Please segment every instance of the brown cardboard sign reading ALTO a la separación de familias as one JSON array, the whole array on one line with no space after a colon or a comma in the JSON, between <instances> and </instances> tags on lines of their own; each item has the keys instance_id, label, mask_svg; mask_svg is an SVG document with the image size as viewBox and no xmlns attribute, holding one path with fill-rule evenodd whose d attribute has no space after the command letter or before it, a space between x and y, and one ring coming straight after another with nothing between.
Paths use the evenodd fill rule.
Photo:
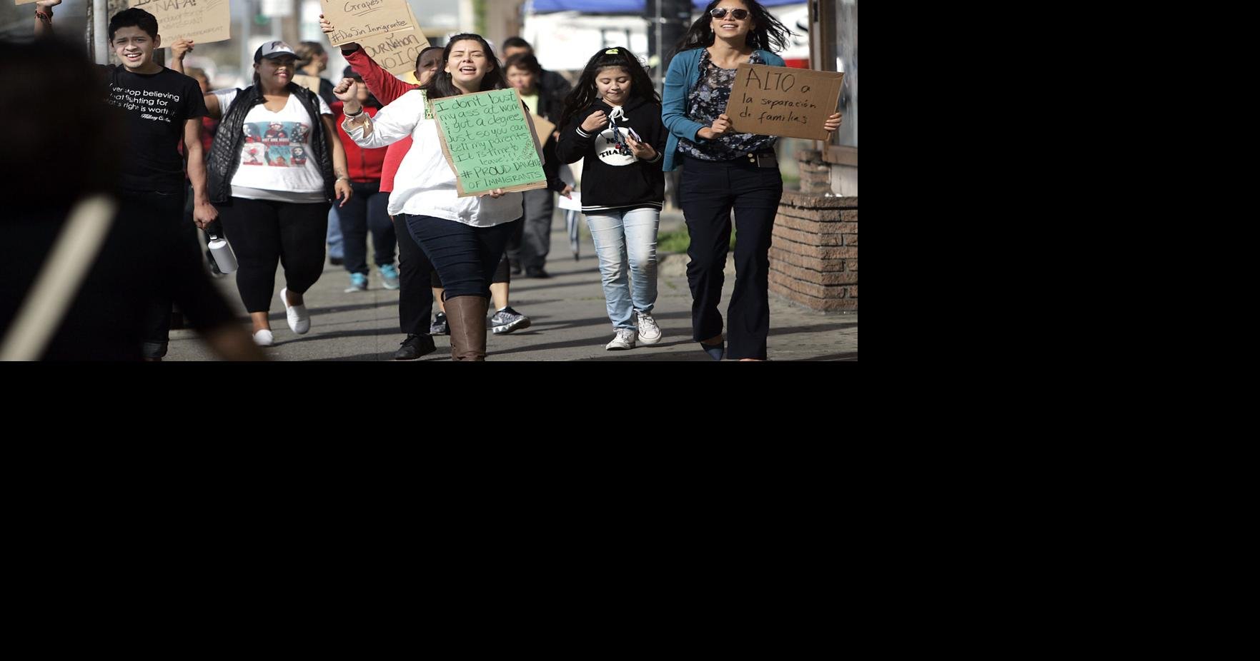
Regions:
<instances>
[{"instance_id":1,"label":"brown cardboard sign reading ALTO a la separaci\u00f3n de familias","mask_svg":"<svg viewBox=\"0 0 1260 661\"><path fill-rule=\"evenodd\" d=\"M738 133L827 140L843 73L740 64L726 113Z\"/></svg>"}]
</instances>

